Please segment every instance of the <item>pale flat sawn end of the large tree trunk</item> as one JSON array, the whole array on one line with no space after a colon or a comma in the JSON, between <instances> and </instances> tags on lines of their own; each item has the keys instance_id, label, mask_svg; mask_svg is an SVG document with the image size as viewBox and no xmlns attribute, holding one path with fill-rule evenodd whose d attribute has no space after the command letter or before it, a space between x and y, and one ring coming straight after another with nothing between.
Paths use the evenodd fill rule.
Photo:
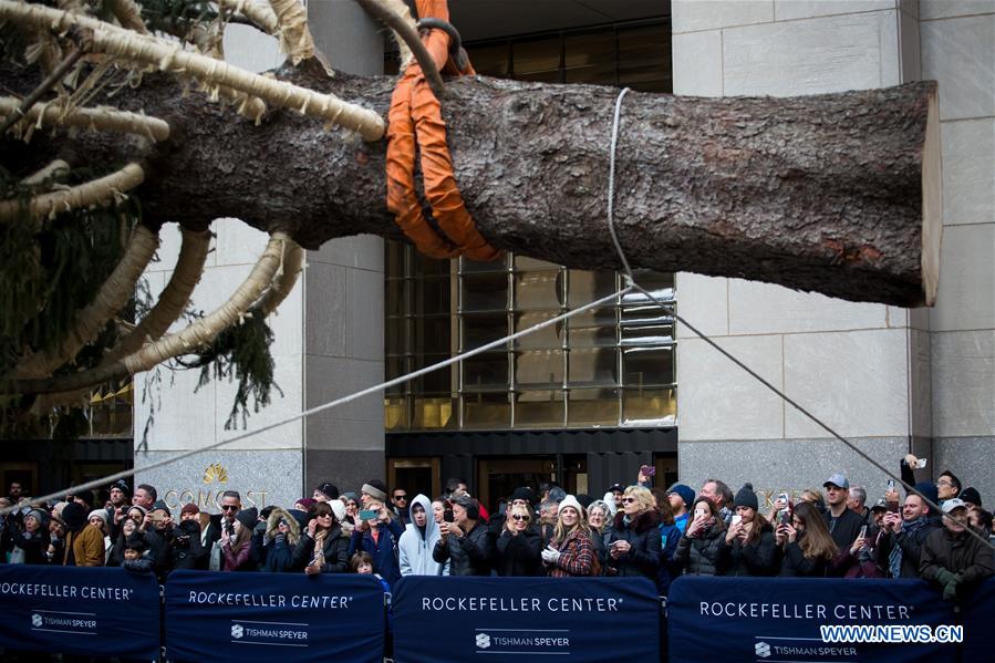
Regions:
<instances>
[{"instance_id":1,"label":"pale flat sawn end of the large tree trunk","mask_svg":"<svg viewBox=\"0 0 995 663\"><path fill-rule=\"evenodd\" d=\"M940 99L927 97L929 116L922 148L922 290L923 304L936 303L940 289L940 244L943 237L943 176L940 158Z\"/></svg>"}]
</instances>

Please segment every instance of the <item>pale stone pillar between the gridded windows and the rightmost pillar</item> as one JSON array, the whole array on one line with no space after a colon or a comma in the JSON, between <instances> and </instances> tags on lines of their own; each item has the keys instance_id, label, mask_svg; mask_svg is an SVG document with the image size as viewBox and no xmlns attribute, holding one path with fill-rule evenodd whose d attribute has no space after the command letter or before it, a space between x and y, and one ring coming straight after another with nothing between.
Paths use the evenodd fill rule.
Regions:
<instances>
[{"instance_id":1,"label":"pale stone pillar between the gridded windows and the rightmost pillar","mask_svg":"<svg viewBox=\"0 0 995 663\"><path fill-rule=\"evenodd\" d=\"M914 2L673 1L674 93L815 94L920 77ZM681 313L874 458L898 469L931 437L929 315L740 279L677 276ZM835 472L881 496L885 477L677 329L681 480L735 491L821 487Z\"/></svg>"}]
</instances>

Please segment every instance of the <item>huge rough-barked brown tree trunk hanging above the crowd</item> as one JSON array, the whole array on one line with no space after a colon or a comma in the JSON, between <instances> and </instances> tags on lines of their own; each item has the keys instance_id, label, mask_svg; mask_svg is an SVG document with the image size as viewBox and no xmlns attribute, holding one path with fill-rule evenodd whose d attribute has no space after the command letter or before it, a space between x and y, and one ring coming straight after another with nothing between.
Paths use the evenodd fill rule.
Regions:
<instances>
[{"instance_id":1,"label":"huge rough-barked brown tree trunk hanging above the crowd","mask_svg":"<svg viewBox=\"0 0 995 663\"><path fill-rule=\"evenodd\" d=\"M281 77L386 115L393 80ZM583 269L620 268L607 222L619 91L494 79L447 83L456 179L496 247ZM146 76L111 100L166 118L173 137L86 134L2 152L32 167L145 158L146 217L199 229L237 217L301 245L400 237L385 208L383 141L367 144L277 111L261 126ZM853 301L914 307L936 292L936 85L808 97L629 93L616 152L615 222L633 266L739 277ZM4 165L11 167L8 157ZM28 168L25 168L28 169Z\"/></svg>"}]
</instances>

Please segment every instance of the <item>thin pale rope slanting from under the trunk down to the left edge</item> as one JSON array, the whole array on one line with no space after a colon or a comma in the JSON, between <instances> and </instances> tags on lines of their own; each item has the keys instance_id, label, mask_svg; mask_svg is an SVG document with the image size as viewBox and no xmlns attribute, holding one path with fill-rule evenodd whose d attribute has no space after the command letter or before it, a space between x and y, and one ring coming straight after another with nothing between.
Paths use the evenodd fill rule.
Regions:
<instances>
[{"instance_id":1,"label":"thin pale rope slanting from under the trunk down to the left edge","mask_svg":"<svg viewBox=\"0 0 995 663\"><path fill-rule=\"evenodd\" d=\"M532 327L529 327L521 331L515 332L514 334L508 334L507 336L500 338L496 341L491 341L489 343L480 345L479 348L474 348L473 350L468 350L466 352L463 352L460 354L452 356L447 360L441 361L441 362L432 364L429 366L425 366L424 369L418 369L417 371L412 371L411 373L407 373L400 377L394 377L393 380L387 380L386 382L382 382L380 384L366 387L359 392L352 393L348 396L342 396L341 398L336 398L334 401L329 401L328 403L318 405L310 410L304 410L303 412L293 414L291 416L282 418L282 419L279 419L277 422L273 422L271 424L262 426L261 428L257 428L255 431L249 431L247 433L242 433L240 435L236 435L235 437L229 437L228 439L222 439L220 442L216 442L214 444L209 444L204 447L190 449L188 452L183 452L182 454L176 454L175 456L170 456L168 458L157 460L155 463L152 463L151 465L143 465L142 467L133 467L131 469L125 469L125 470L122 470L122 472L118 472L118 473L115 473L112 475L107 475L107 476L99 478L99 479L93 479L92 481L86 481L85 484L80 484L79 486L72 486L71 488L64 488L64 489L58 490L55 493L50 493L49 495L42 495L41 497L33 497L33 498L31 498L30 504L31 505L40 505L41 503L62 499L66 494L70 494L70 493L82 493L84 490L92 490L94 488L103 488L103 487L106 487L108 484L113 484L117 479L125 479L125 478L132 477L139 472L148 472L152 469L156 469L158 467L172 465L173 463L183 460L184 458L189 458L190 456L196 456L197 454L203 454L204 452L210 452L213 449L220 448L220 447L231 444L234 442L247 439L255 435L259 435L260 433L266 433L267 431L272 431L273 428L279 428L280 426L284 426L284 425L296 422L298 419L307 418L311 415L318 414L319 412L324 412L325 410L331 410L331 408L338 407L340 405L345 405L346 403L351 403L357 398L362 398L363 396L369 396L370 394L374 394L374 393L385 390L387 387L402 384L414 377L421 377L422 375L425 375L426 373L431 373L433 371L437 371L438 369L445 369L446 366L450 366L455 363L459 363L465 359L469 359L469 358L480 354L483 352L487 352L488 350L491 350L494 348L499 348L500 345L504 345L508 341L515 341L515 340L520 339L520 338L522 338L527 334L530 334L535 331L539 331L540 329L543 329L543 328L557 324L559 322L562 322L564 320L568 320L570 318L573 318L574 315L583 313L584 311L589 311L591 309L595 309L595 308L604 305L607 303L611 303L613 300L615 300L615 298L626 294L631 290L632 290L632 286L628 286L625 288L622 288L618 292L613 292L612 294L602 297L601 299L599 299L597 301L592 301L591 303L584 304L584 305L580 307L579 309L573 309L572 311L568 311L566 313L557 315L556 318L550 318L549 320L543 320L542 322L539 322L538 324L533 324ZM23 506L24 506L23 504L12 505L10 507L0 509L0 516L6 516L7 514L10 514L20 508L23 508Z\"/></svg>"}]
</instances>

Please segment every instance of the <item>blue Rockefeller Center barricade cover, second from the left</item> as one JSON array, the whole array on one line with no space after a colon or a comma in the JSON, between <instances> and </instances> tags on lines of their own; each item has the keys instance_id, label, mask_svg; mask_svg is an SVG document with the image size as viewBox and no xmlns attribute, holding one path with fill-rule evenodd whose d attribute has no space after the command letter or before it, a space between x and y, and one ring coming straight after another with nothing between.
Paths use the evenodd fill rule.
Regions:
<instances>
[{"instance_id":1,"label":"blue Rockefeller Center barricade cover, second from the left","mask_svg":"<svg viewBox=\"0 0 995 663\"><path fill-rule=\"evenodd\" d=\"M174 571L166 581L172 661L380 663L383 643L372 576Z\"/></svg>"}]
</instances>

